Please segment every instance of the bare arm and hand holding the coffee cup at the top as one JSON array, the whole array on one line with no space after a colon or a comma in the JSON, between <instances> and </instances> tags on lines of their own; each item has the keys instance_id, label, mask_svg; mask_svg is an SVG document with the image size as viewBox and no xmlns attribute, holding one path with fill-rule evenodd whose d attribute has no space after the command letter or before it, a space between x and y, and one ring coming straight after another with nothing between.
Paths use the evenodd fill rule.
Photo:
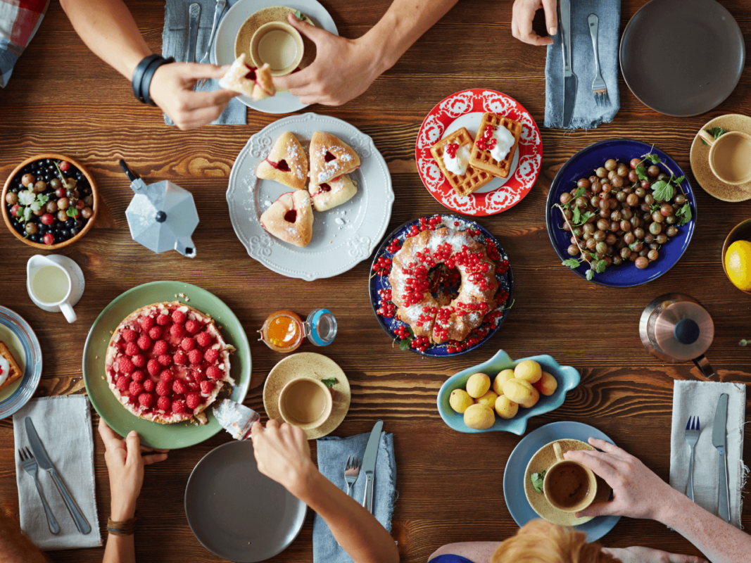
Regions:
<instances>
[{"instance_id":1,"label":"bare arm and hand holding the coffee cup at the top","mask_svg":"<svg viewBox=\"0 0 751 563\"><path fill-rule=\"evenodd\" d=\"M440 20L457 0L394 0L365 35L346 39L297 20L288 20L315 43L315 61L302 71L273 79L303 104L339 106L366 91L394 66L415 41Z\"/></svg>"}]
</instances>

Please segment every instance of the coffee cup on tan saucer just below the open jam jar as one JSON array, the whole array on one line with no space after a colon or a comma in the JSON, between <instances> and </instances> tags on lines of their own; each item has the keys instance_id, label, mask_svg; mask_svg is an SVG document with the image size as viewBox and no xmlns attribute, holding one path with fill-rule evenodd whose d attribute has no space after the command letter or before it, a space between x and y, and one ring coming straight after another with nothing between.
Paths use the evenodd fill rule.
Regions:
<instances>
[{"instance_id":1,"label":"coffee cup on tan saucer just below the open jam jar","mask_svg":"<svg viewBox=\"0 0 751 563\"><path fill-rule=\"evenodd\" d=\"M314 378L293 379L279 393L279 413L286 423L312 430L331 415L333 399L328 387Z\"/></svg>"}]
</instances>

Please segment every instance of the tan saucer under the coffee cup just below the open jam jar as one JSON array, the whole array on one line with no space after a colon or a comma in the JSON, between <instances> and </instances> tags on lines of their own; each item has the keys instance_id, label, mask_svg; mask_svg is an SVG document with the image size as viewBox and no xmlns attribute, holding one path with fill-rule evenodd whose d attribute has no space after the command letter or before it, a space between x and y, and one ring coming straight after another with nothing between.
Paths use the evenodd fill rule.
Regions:
<instances>
[{"instance_id":1,"label":"tan saucer under the coffee cup just below the open jam jar","mask_svg":"<svg viewBox=\"0 0 751 563\"><path fill-rule=\"evenodd\" d=\"M331 416L318 428L305 431L309 440L315 440L330 434L342 423L349 410L352 392L347 376L333 360L313 352L292 354L273 367L264 383L264 409L270 419L282 422L282 414L279 413L279 393L282 393L282 389L290 381L303 376L318 380L336 378L336 385L331 387Z\"/></svg>"}]
</instances>

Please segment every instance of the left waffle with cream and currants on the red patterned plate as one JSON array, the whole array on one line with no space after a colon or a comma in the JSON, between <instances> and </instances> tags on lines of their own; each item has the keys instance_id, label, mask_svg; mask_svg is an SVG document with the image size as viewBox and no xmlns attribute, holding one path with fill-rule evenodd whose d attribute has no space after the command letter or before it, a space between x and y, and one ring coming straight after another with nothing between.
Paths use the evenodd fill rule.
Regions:
<instances>
[{"instance_id":1,"label":"left waffle with cream and currants on the red patterned plate","mask_svg":"<svg viewBox=\"0 0 751 563\"><path fill-rule=\"evenodd\" d=\"M430 147L448 183L459 195L469 195L493 179L493 174L475 169L469 164L472 151L472 136L462 127L446 135Z\"/></svg>"}]
</instances>

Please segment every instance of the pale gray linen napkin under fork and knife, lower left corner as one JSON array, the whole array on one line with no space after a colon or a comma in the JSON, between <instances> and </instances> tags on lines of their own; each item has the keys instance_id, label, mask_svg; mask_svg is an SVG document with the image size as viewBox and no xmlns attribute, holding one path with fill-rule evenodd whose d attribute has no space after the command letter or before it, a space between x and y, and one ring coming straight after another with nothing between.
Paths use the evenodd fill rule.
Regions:
<instances>
[{"instance_id":1,"label":"pale gray linen napkin under fork and knife, lower left corner","mask_svg":"<svg viewBox=\"0 0 751 563\"><path fill-rule=\"evenodd\" d=\"M47 526L47 516L39 498L34 479L23 470L18 456L20 447L29 447L23 419L32 417L47 455L55 465L58 476L92 526L89 534L81 534L65 507L55 482L47 471L37 474L44 498L60 525L58 534ZM21 529L43 550L73 549L101 546L99 519L94 489L94 440L89 399L84 395L67 395L32 399L13 415L13 434L16 444L16 481Z\"/></svg>"}]
</instances>

